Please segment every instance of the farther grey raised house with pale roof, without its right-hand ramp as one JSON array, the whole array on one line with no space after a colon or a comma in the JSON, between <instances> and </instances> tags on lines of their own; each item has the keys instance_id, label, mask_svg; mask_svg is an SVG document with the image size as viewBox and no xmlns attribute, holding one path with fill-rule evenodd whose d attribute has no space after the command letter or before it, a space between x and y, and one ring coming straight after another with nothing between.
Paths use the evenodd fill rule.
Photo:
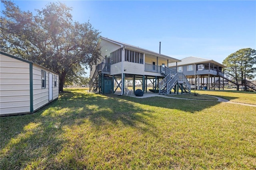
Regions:
<instances>
[{"instance_id":1,"label":"farther grey raised house with pale roof, without its right-hand ramp","mask_svg":"<svg viewBox=\"0 0 256 170\"><path fill-rule=\"evenodd\" d=\"M176 68L176 65L170 64L169 67ZM224 87L224 81L217 81L217 79L221 80L220 77L224 76L225 67L225 65L212 59L200 57L186 57L177 63L177 71L184 73L190 84L196 89Z\"/></svg>"}]
</instances>

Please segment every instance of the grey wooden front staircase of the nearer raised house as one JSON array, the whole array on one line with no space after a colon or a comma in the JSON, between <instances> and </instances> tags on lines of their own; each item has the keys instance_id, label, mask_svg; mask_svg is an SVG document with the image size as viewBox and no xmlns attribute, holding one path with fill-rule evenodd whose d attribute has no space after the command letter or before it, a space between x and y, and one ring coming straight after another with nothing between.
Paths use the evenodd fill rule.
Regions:
<instances>
[{"instance_id":1,"label":"grey wooden front staircase of the nearer raised house","mask_svg":"<svg viewBox=\"0 0 256 170\"><path fill-rule=\"evenodd\" d=\"M176 73L176 69L162 68L162 74L165 75L164 79L159 83L159 93L161 95L170 94L171 90L178 83L182 93L190 93L190 83L183 73Z\"/></svg>"}]
</instances>

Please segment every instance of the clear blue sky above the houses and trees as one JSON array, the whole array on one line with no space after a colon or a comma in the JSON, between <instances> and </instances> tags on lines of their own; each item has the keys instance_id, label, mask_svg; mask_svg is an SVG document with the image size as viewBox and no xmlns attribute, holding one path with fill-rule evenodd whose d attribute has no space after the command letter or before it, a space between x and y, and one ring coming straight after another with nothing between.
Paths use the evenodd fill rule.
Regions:
<instances>
[{"instance_id":1,"label":"clear blue sky above the houses and trees","mask_svg":"<svg viewBox=\"0 0 256 170\"><path fill-rule=\"evenodd\" d=\"M34 12L53 1L13 2ZM60 2L73 8L74 21L89 20L103 37L156 52L161 42L161 53L177 59L196 56L222 63L239 49L256 49L256 1Z\"/></svg>"}]
</instances>

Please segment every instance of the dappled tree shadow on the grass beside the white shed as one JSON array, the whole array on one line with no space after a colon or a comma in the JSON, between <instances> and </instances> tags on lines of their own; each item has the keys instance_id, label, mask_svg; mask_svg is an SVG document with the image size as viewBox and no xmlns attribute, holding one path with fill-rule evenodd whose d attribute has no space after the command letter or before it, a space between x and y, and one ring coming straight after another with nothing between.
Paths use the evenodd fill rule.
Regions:
<instances>
[{"instance_id":1,"label":"dappled tree shadow on the grass beside the white shed","mask_svg":"<svg viewBox=\"0 0 256 170\"><path fill-rule=\"evenodd\" d=\"M110 124L139 129L142 133L154 133L154 125L147 121L150 111L120 98L86 93L60 93L60 98L22 116L1 117L0 169L40 167L61 169L65 162L54 159L61 154L70 140L63 138L66 127L79 127L89 121L100 132ZM138 126L138 122L140 125ZM70 167L72 168L72 167Z\"/></svg>"}]
</instances>

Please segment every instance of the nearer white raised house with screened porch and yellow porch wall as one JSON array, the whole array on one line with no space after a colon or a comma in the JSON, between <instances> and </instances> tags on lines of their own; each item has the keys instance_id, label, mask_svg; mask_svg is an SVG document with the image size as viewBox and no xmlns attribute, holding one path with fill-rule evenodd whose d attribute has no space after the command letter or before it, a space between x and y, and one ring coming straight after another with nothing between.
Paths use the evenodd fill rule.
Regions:
<instances>
[{"instance_id":1,"label":"nearer white raised house with screened porch and yellow porch wall","mask_svg":"<svg viewBox=\"0 0 256 170\"><path fill-rule=\"evenodd\" d=\"M175 87L178 93L190 92L190 84L177 69L168 68L180 60L126 43L100 37L101 59L90 71L90 91L124 95L125 81L142 82L143 93L148 92L148 83L153 83L154 92L168 95Z\"/></svg>"}]
</instances>

